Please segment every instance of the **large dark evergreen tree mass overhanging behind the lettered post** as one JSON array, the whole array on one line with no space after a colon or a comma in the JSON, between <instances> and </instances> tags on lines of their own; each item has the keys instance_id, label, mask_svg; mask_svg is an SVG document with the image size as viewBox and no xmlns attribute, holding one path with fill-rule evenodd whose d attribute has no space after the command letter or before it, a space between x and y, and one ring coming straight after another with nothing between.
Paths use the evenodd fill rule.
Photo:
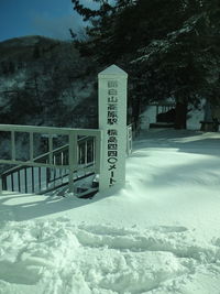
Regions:
<instances>
[{"instance_id":1,"label":"large dark evergreen tree mass overhanging behind the lettered post","mask_svg":"<svg viewBox=\"0 0 220 294\"><path fill-rule=\"evenodd\" d=\"M95 0L94 0L95 1ZM176 128L186 127L188 104L206 97L217 104L220 76L220 21L217 0L105 0L99 10L73 0L86 21L89 41L81 53L100 64L121 64L130 74L136 109L173 97ZM136 116L138 117L138 116Z\"/></svg>"}]
</instances>

